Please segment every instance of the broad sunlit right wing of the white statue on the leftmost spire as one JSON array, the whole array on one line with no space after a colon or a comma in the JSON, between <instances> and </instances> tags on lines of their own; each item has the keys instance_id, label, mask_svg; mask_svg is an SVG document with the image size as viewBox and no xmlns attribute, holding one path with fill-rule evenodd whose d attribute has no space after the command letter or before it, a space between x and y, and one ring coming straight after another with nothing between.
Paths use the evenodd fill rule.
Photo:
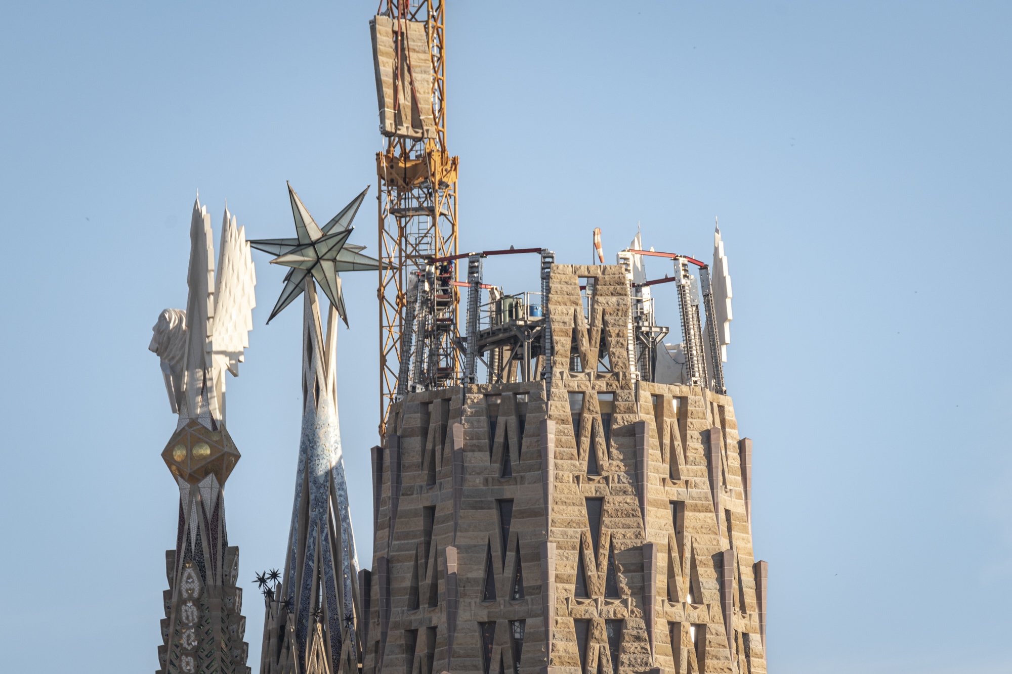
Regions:
<instances>
[{"instance_id":1,"label":"broad sunlit right wing of the white statue on the leftmost spire","mask_svg":"<svg viewBox=\"0 0 1012 674\"><path fill-rule=\"evenodd\" d=\"M256 272L249 244L246 243L246 228L236 226L236 219L228 208L222 223L216 283L213 331L215 364L227 368L233 376L238 376L243 350L250 345L249 333L253 329Z\"/></svg>"}]
</instances>

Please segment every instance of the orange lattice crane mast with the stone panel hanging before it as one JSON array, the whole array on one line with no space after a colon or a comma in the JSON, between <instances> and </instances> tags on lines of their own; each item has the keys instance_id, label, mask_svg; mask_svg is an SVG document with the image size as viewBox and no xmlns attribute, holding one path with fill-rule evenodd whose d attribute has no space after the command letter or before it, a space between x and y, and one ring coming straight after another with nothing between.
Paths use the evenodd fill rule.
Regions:
<instances>
[{"instance_id":1,"label":"orange lattice crane mast with the stone panel hanging before it","mask_svg":"<svg viewBox=\"0 0 1012 674\"><path fill-rule=\"evenodd\" d=\"M457 158L446 149L444 4L385 0L370 21L384 136L376 153L381 436L391 405L409 393L407 377L399 375L412 348L421 371L411 386L451 386L460 373L456 265L433 262L457 254ZM428 306L417 307L419 299Z\"/></svg>"}]
</instances>

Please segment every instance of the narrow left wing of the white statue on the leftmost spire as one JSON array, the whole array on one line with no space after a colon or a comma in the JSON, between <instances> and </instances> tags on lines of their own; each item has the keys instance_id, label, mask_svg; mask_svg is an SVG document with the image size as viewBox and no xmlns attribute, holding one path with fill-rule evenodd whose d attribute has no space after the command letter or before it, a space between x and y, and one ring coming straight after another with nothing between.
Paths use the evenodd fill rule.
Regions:
<instances>
[{"instance_id":1,"label":"narrow left wing of the white statue on the leftmost spire","mask_svg":"<svg viewBox=\"0 0 1012 674\"><path fill-rule=\"evenodd\" d=\"M190 262L186 277L186 355L183 398L187 413L195 417L201 409L201 389L212 365L210 337L215 318L215 247L210 236L210 216L200 200L193 202L190 219Z\"/></svg>"}]
</instances>

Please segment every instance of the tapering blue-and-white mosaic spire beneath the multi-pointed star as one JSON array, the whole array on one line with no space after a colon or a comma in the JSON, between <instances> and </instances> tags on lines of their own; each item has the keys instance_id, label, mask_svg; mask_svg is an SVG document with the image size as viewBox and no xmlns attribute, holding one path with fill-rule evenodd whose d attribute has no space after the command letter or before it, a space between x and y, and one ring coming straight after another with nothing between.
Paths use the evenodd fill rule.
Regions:
<instances>
[{"instance_id":1,"label":"tapering blue-and-white mosaic spire beneath the multi-pointed star","mask_svg":"<svg viewBox=\"0 0 1012 674\"><path fill-rule=\"evenodd\" d=\"M262 674L358 671L358 573L337 415L338 312L305 281L303 427L284 576L266 598Z\"/></svg>"}]
</instances>

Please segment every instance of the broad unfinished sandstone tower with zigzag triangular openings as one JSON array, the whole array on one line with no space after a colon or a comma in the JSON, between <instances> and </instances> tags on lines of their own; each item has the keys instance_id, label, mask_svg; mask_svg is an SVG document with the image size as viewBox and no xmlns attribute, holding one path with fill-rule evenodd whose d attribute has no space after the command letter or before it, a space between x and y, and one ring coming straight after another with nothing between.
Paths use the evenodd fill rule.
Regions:
<instances>
[{"instance_id":1,"label":"broad unfinished sandstone tower with zigzag triangular openings","mask_svg":"<svg viewBox=\"0 0 1012 674\"><path fill-rule=\"evenodd\" d=\"M751 442L728 396L636 376L629 311L621 266L554 265L544 378L394 406L363 672L765 673Z\"/></svg>"}]
</instances>

